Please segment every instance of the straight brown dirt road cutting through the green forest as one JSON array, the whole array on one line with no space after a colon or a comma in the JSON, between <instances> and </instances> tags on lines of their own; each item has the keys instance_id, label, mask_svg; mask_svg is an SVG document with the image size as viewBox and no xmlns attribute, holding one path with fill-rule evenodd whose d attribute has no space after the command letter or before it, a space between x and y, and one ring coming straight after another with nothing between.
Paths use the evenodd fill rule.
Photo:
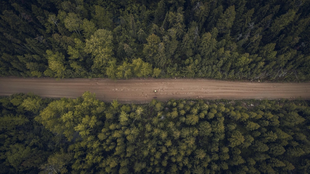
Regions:
<instances>
[{"instance_id":1,"label":"straight brown dirt road cutting through the green forest","mask_svg":"<svg viewBox=\"0 0 310 174\"><path fill-rule=\"evenodd\" d=\"M157 92L154 92L157 90ZM205 79L61 79L0 78L0 95L28 93L42 97L77 98L85 91L110 102L145 103L154 97L200 99L310 99L310 83L232 82Z\"/></svg>"}]
</instances>

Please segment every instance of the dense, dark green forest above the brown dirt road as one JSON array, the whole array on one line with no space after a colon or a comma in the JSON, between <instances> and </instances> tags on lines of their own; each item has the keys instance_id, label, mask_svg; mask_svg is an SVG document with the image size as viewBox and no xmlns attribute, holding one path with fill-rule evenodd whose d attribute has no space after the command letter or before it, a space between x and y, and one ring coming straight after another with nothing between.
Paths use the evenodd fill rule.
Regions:
<instances>
[{"instance_id":1,"label":"dense, dark green forest above the brown dirt road","mask_svg":"<svg viewBox=\"0 0 310 174\"><path fill-rule=\"evenodd\" d=\"M310 1L1 0L1 76L310 79Z\"/></svg>"}]
</instances>

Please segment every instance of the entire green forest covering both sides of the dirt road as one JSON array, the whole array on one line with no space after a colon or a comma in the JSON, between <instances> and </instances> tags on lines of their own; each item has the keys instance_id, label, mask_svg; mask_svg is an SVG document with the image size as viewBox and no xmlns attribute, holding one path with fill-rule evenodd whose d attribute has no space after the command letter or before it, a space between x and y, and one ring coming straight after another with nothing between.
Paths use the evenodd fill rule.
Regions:
<instances>
[{"instance_id":1,"label":"entire green forest covering both sides of the dirt road","mask_svg":"<svg viewBox=\"0 0 310 174\"><path fill-rule=\"evenodd\" d=\"M0 76L310 80L310 1L0 1ZM0 168L310 173L310 101L0 97Z\"/></svg>"}]
</instances>

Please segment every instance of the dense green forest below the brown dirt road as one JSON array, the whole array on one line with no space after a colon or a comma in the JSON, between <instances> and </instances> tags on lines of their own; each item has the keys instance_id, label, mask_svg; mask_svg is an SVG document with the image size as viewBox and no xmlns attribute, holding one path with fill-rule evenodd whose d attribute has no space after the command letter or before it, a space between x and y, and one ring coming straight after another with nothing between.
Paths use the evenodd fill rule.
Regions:
<instances>
[{"instance_id":1,"label":"dense green forest below the brown dirt road","mask_svg":"<svg viewBox=\"0 0 310 174\"><path fill-rule=\"evenodd\" d=\"M0 98L0 173L309 173L310 103Z\"/></svg>"}]
</instances>

